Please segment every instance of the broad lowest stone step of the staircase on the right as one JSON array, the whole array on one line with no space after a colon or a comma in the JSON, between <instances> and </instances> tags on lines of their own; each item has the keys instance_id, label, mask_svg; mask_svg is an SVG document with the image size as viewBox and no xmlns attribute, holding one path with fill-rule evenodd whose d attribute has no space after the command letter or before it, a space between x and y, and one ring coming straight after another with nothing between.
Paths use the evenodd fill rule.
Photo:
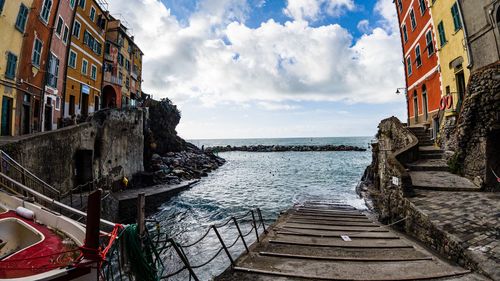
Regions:
<instances>
[{"instance_id":1,"label":"broad lowest stone step of the staircase on the right","mask_svg":"<svg viewBox=\"0 0 500 281\"><path fill-rule=\"evenodd\" d=\"M410 171L413 188L437 191L480 191L469 179L443 171Z\"/></svg>"}]
</instances>

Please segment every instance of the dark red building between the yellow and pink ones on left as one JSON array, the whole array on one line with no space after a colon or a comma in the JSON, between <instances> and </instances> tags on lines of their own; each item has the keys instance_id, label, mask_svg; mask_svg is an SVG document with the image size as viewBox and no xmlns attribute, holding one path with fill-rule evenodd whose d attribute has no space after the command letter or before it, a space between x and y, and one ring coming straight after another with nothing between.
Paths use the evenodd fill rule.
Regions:
<instances>
[{"instance_id":1,"label":"dark red building between the yellow and pink ones on left","mask_svg":"<svg viewBox=\"0 0 500 281\"><path fill-rule=\"evenodd\" d=\"M34 0L28 15L19 59L16 135L42 129L49 46L58 4L59 0Z\"/></svg>"}]
</instances>

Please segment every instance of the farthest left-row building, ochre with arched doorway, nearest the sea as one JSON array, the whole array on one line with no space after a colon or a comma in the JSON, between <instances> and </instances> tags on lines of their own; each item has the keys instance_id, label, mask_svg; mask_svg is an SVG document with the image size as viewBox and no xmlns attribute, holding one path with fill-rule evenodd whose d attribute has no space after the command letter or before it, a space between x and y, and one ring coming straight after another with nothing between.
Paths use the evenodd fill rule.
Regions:
<instances>
[{"instance_id":1,"label":"farthest left-row building, ochre with arched doorway, nearest the sea","mask_svg":"<svg viewBox=\"0 0 500 281\"><path fill-rule=\"evenodd\" d=\"M141 96L143 53L124 23L111 17L106 32L103 105L135 106Z\"/></svg>"}]
</instances>

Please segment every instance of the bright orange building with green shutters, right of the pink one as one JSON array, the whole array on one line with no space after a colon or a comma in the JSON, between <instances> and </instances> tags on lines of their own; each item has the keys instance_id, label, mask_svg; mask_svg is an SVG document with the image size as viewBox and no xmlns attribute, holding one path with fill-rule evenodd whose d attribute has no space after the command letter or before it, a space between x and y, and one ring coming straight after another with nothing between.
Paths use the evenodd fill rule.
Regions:
<instances>
[{"instance_id":1,"label":"bright orange building with green shutters, right of the pink one","mask_svg":"<svg viewBox=\"0 0 500 281\"><path fill-rule=\"evenodd\" d=\"M65 117L85 118L100 108L107 17L97 1L78 1L67 59Z\"/></svg>"}]
</instances>

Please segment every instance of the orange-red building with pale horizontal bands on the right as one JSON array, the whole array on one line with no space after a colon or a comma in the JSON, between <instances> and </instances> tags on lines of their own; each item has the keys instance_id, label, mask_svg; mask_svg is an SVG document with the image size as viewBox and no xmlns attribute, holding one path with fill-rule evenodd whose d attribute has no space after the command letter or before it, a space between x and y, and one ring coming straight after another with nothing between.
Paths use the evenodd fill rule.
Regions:
<instances>
[{"instance_id":1,"label":"orange-red building with pale horizontal bands on the right","mask_svg":"<svg viewBox=\"0 0 500 281\"><path fill-rule=\"evenodd\" d=\"M436 36L427 0L396 0L409 125L439 126L441 78Z\"/></svg>"}]
</instances>

